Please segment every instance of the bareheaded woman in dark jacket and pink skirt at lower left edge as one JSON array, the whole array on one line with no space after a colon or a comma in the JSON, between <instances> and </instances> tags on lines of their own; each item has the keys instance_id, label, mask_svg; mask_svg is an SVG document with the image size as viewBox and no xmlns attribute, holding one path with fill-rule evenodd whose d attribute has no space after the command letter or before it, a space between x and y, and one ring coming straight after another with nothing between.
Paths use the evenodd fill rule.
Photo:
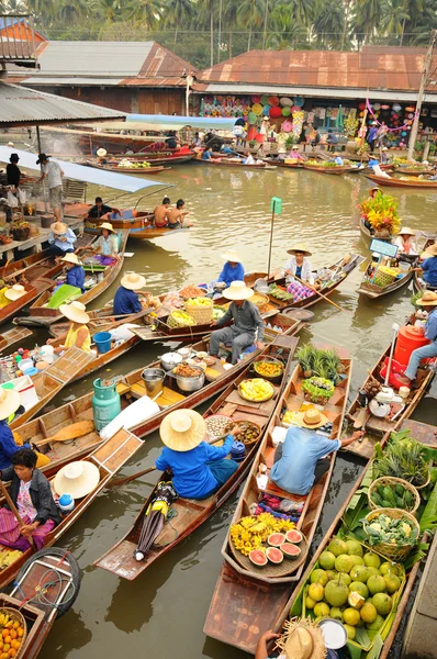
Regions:
<instances>
[{"instance_id":1,"label":"bareheaded woman in dark jacket and pink skirt at lower left edge","mask_svg":"<svg viewBox=\"0 0 437 659\"><path fill-rule=\"evenodd\" d=\"M24 526L8 506L0 509L0 545L20 551L31 548L30 538L42 549L60 522L51 483L36 468L36 460L34 450L21 448L12 456L12 467L1 470L1 480L11 481L9 494Z\"/></svg>"}]
</instances>

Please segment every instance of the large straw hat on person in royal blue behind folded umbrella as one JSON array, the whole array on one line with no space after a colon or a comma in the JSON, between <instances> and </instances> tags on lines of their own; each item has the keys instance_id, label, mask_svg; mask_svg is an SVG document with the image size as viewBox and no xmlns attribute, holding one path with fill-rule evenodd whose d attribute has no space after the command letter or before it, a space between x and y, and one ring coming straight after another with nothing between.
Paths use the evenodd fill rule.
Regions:
<instances>
[{"instance_id":1,"label":"large straw hat on person in royal blue behind folded umbrella","mask_svg":"<svg viewBox=\"0 0 437 659\"><path fill-rule=\"evenodd\" d=\"M163 444L180 453L199 446L205 435L204 418L194 410L175 410L167 414L159 427Z\"/></svg>"}]
</instances>

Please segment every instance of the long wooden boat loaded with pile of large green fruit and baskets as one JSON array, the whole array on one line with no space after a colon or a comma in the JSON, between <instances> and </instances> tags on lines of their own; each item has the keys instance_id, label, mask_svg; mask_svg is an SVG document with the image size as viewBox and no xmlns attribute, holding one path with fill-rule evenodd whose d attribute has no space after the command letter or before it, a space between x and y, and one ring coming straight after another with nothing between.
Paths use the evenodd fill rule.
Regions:
<instances>
[{"instance_id":1,"label":"long wooden boat loaded with pile of large green fruit and baskets","mask_svg":"<svg viewBox=\"0 0 437 659\"><path fill-rule=\"evenodd\" d=\"M414 425L413 426L410 425L410 427L413 427L413 436L415 436L414 435ZM422 437L418 438L418 440L432 448L437 448L437 442L436 442L436 437L434 435L434 428L432 426L427 426L427 427L428 427L427 435L423 434ZM404 425L397 424L397 428L403 429ZM390 433L388 433L384 436L384 439L381 442L382 447L385 445L389 437L390 437ZM368 466L368 468L365 469L363 472L361 473L360 478L358 479L358 481L356 482L354 488L350 490L349 494L346 498L345 503L341 505L340 510L338 511L338 513L337 513L334 522L332 523L330 527L328 528L323 541L316 548L315 554L314 554L310 565L306 568L305 573L303 574L299 584L294 589L290 599L287 601L287 603L282 607L280 615L278 616L276 623L271 627L273 629L273 632L281 633L284 622L289 617L294 617L294 616L301 617L301 616L305 615L303 599L304 599L305 585L307 583L309 577L310 577L311 572L313 571L313 569L318 565L318 558L320 558L321 554L326 549L326 546L329 544L332 537L335 535L340 535L341 537L347 538L348 533L349 533L347 514L351 513L354 515L354 517L356 517L359 515L360 509L362 510L361 516L363 516L366 514L365 509L366 509L366 504L367 504L367 491L368 491L369 484L372 480L373 480L372 470L371 470L371 467ZM368 509L367 509L367 511L368 511ZM412 593L412 588L417 578L417 572L418 572L419 566L421 566L421 562L417 561L411 568L410 572L406 576L406 582L404 584L404 588L401 591L401 594L396 602L396 606L394 607L392 614L386 618L389 621L388 624L384 625L382 634L372 636L372 638L370 639L371 640L370 646L367 646L369 649L365 650L357 643L348 641L347 647L348 647L348 650L349 650L352 659L370 659L370 658L386 659L386 657L389 656L389 652L390 652L390 648L394 641L396 632L397 632L397 629L401 625L401 622L405 615L410 595ZM259 628L258 634L260 635L267 628L262 628L262 627Z\"/></svg>"}]
</instances>

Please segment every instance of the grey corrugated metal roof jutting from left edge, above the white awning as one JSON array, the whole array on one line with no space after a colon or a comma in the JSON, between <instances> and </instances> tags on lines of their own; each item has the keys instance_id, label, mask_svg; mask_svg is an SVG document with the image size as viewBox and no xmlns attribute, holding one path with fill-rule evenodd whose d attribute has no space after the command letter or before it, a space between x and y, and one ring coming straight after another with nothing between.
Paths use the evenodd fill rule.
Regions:
<instances>
[{"instance_id":1,"label":"grey corrugated metal roof jutting from left edge, above the white awning","mask_svg":"<svg viewBox=\"0 0 437 659\"><path fill-rule=\"evenodd\" d=\"M123 119L124 112L0 82L0 125Z\"/></svg>"}]
</instances>

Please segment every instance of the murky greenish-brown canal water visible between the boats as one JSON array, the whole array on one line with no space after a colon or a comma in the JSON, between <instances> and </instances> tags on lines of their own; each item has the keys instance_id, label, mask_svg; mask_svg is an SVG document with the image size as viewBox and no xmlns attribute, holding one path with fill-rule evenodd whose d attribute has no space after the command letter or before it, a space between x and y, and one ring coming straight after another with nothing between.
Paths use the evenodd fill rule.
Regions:
<instances>
[{"instance_id":1,"label":"murky greenish-brown canal water visible between the boats","mask_svg":"<svg viewBox=\"0 0 437 659\"><path fill-rule=\"evenodd\" d=\"M370 182L362 175L325 176L304 170L276 169L242 171L190 164L175 167L159 177L171 202L184 199L194 227L175 232L154 243L131 241L134 253L125 259L125 270L147 279L154 293L177 290L182 284L215 279L221 271L221 254L234 247L246 271L267 269L271 197L282 199L282 213L274 217L272 266L281 267L293 243L305 242L313 253L314 266L325 266L346 254L369 255L369 245L359 231L358 203L367 196ZM93 190L92 192L97 192ZM390 190L388 190L389 192ZM100 192L103 192L100 190ZM393 190L400 201L402 223L414 230L436 231L436 199L433 191ZM117 198L114 205L139 209L154 206L163 192L148 199ZM112 199L107 194L107 200ZM301 333L301 344L323 340L347 348L354 358L352 392L388 345L394 321L402 323L411 312L412 287L380 301L359 299L362 276L355 271L337 290L333 300L313 308L314 320ZM116 286L93 306L112 299ZM43 338L43 335L42 335ZM168 346L167 346L168 348ZM126 357L105 369L104 376L125 373L146 365L164 351L161 344L137 346ZM90 390L92 378L64 391L61 404ZM430 401L416 413L430 420ZM159 454L157 434L149 436L144 449L123 473L152 466ZM362 463L338 456L316 544L357 479ZM42 659L93 659L96 657L164 657L166 659L243 659L235 648L206 638L203 624L221 567L221 546L235 509L236 496L156 562L134 582L120 580L93 567L99 558L128 529L144 499L149 494L154 474L124 488L102 493L91 509L66 534L60 546L70 550L82 570L82 584L72 610L60 618L41 652Z\"/></svg>"}]
</instances>

